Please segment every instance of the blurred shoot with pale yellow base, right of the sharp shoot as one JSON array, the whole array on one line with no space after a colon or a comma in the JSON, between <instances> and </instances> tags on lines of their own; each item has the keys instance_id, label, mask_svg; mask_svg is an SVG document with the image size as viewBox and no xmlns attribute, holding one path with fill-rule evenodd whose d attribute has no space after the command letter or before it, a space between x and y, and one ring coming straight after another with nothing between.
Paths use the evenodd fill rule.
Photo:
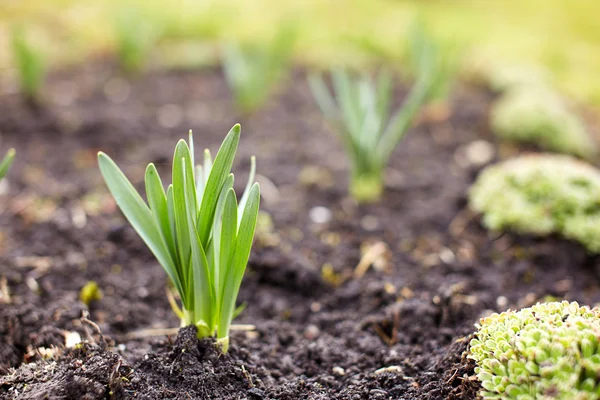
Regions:
<instances>
[{"instance_id":1,"label":"blurred shoot with pale yellow base, right of the sharp shoot","mask_svg":"<svg viewBox=\"0 0 600 400\"><path fill-rule=\"evenodd\" d=\"M437 72L428 66L408 98L393 115L392 77L381 72L376 82L343 70L331 73L334 95L320 76L309 77L313 96L325 118L338 132L350 165L350 194L358 202L379 200L384 169L435 87Z\"/></svg>"}]
</instances>

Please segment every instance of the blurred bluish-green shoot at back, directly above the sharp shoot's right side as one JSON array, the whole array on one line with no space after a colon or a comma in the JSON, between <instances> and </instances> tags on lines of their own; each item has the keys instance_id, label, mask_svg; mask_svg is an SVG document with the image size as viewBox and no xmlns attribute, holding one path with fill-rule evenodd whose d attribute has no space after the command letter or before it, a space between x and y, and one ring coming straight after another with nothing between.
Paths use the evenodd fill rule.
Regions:
<instances>
[{"instance_id":1,"label":"blurred bluish-green shoot at back, directly above the sharp shoot's right side","mask_svg":"<svg viewBox=\"0 0 600 400\"><path fill-rule=\"evenodd\" d=\"M242 113L252 113L267 101L289 69L295 41L295 27L285 24L266 45L225 44L223 71Z\"/></svg>"}]
</instances>

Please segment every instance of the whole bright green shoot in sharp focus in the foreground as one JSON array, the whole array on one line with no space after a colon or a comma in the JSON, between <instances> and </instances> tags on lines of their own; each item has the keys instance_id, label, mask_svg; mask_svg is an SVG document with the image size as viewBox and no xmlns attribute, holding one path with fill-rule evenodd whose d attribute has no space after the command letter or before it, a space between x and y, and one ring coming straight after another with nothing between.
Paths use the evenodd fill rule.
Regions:
<instances>
[{"instance_id":1,"label":"whole bright green shoot in sharp focus in the foreground","mask_svg":"<svg viewBox=\"0 0 600 400\"><path fill-rule=\"evenodd\" d=\"M98 154L100 171L119 208L165 269L181 298L173 302L181 325L195 325L198 337L216 337L223 352L235 301L246 269L258 216L260 193L255 160L239 204L231 166L240 138L235 125L214 162L205 150L194 169L194 143L177 143L172 184L165 191L154 164L146 169L146 204L119 167Z\"/></svg>"}]
</instances>

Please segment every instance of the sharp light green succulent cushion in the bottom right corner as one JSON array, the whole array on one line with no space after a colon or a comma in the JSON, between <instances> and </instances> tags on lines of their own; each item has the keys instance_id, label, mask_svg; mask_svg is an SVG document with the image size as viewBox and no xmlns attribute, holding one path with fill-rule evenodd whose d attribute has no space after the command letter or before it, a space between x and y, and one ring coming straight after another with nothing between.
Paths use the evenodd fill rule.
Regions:
<instances>
[{"instance_id":1,"label":"sharp light green succulent cushion in the bottom right corner","mask_svg":"<svg viewBox=\"0 0 600 400\"><path fill-rule=\"evenodd\" d=\"M483 318L470 343L484 399L600 398L600 310L567 301Z\"/></svg>"}]
</instances>

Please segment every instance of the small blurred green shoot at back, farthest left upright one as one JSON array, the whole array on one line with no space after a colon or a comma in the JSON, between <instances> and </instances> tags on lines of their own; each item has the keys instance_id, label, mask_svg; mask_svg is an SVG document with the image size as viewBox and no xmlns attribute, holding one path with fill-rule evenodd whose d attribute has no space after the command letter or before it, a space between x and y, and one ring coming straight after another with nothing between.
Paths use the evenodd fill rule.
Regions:
<instances>
[{"instance_id":1,"label":"small blurred green shoot at back, farthest left upright one","mask_svg":"<svg viewBox=\"0 0 600 400\"><path fill-rule=\"evenodd\" d=\"M29 40L25 27L21 25L12 29L12 51L21 93L35 104L40 99L46 67L42 52Z\"/></svg>"}]
</instances>

